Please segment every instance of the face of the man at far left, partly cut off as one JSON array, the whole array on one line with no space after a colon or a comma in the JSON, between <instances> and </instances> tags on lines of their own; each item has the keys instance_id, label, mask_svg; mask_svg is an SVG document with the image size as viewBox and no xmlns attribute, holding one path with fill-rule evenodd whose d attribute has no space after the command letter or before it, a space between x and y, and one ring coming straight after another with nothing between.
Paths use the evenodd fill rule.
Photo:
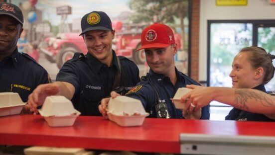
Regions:
<instances>
[{"instance_id":1,"label":"face of the man at far left, partly cut off","mask_svg":"<svg viewBox=\"0 0 275 155\"><path fill-rule=\"evenodd\" d=\"M0 58L11 55L16 48L22 26L8 15L0 15ZM0 59L0 60L1 60Z\"/></svg>"}]
</instances>

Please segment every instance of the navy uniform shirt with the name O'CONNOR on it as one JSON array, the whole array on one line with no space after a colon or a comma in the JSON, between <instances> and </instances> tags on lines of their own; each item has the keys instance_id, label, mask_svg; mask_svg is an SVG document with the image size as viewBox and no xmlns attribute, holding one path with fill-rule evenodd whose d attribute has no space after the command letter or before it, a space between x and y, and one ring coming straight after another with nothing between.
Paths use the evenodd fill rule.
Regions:
<instances>
[{"instance_id":1,"label":"navy uniform shirt with the name O'CONNOR on it","mask_svg":"<svg viewBox=\"0 0 275 155\"><path fill-rule=\"evenodd\" d=\"M130 90L140 81L138 67L125 57L119 56L119 59L122 70L120 86ZM75 93L72 102L81 115L96 116L101 115L98 111L101 99L110 96L118 69L115 51L110 67L88 52L85 57L74 57L67 61L57 74L56 80L73 84Z\"/></svg>"}]
</instances>

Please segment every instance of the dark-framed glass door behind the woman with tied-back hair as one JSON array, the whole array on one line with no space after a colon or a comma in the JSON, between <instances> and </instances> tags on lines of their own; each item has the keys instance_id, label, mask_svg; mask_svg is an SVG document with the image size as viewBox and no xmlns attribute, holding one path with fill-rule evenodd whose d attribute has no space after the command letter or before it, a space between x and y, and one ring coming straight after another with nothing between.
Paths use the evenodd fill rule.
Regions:
<instances>
[{"instance_id":1,"label":"dark-framed glass door behind the woman with tied-back hair","mask_svg":"<svg viewBox=\"0 0 275 155\"><path fill-rule=\"evenodd\" d=\"M263 47L275 55L275 20L209 20L207 33L208 86L232 87L232 62L244 47ZM275 78L266 84L266 89L275 91ZM211 120L224 120L232 109L216 101L210 105Z\"/></svg>"}]
</instances>

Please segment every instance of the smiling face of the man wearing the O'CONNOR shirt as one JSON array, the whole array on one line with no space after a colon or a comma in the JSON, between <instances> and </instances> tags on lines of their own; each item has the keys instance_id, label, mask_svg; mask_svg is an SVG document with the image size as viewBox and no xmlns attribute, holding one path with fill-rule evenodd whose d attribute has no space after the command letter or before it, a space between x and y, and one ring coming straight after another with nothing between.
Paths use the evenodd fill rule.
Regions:
<instances>
[{"instance_id":1,"label":"smiling face of the man wearing the O'CONNOR shirt","mask_svg":"<svg viewBox=\"0 0 275 155\"><path fill-rule=\"evenodd\" d=\"M115 37L115 31L91 30L84 33L84 41L91 55L101 63L111 65L112 40Z\"/></svg>"}]
</instances>

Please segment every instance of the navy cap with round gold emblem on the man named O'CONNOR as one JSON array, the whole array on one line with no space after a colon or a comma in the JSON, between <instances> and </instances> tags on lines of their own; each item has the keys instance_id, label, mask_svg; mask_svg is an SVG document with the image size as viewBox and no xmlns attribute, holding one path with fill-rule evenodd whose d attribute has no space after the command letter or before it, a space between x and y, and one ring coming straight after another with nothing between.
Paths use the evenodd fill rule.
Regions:
<instances>
[{"instance_id":1,"label":"navy cap with round gold emblem on the man named O'CONNOR","mask_svg":"<svg viewBox=\"0 0 275 155\"><path fill-rule=\"evenodd\" d=\"M110 17L102 11L92 11L85 14L81 19L80 35L91 30L112 31L112 22Z\"/></svg>"}]
</instances>

